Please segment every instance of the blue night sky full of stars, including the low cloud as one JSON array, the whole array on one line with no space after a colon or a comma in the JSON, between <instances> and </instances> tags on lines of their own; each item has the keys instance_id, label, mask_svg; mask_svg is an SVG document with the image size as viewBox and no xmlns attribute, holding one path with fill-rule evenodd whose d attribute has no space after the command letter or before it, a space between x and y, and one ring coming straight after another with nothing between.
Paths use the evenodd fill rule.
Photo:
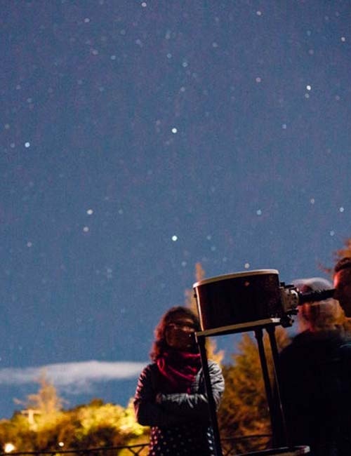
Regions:
<instances>
[{"instance_id":1,"label":"blue night sky full of stars, including the low cloud","mask_svg":"<svg viewBox=\"0 0 351 456\"><path fill-rule=\"evenodd\" d=\"M0 417L41 366L71 406L126 405L197 262L325 276L351 236L350 13L1 0Z\"/></svg>"}]
</instances>

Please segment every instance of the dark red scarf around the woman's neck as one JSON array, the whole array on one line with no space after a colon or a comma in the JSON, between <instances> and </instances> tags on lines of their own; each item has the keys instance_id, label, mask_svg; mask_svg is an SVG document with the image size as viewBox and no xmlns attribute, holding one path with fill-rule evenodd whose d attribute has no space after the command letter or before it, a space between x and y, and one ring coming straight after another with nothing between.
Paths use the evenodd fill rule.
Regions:
<instances>
[{"instance_id":1,"label":"dark red scarf around the woman's neck","mask_svg":"<svg viewBox=\"0 0 351 456\"><path fill-rule=\"evenodd\" d=\"M156 361L164 380L165 393L190 393L192 382L201 368L199 353L169 350Z\"/></svg>"}]
</instances>

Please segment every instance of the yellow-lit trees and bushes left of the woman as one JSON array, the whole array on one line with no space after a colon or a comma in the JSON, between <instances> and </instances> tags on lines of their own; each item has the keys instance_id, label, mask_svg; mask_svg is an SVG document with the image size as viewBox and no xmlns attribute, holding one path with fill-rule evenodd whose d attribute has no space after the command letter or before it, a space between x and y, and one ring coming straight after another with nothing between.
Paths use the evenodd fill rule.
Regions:
<instances>
[{"instance_id":1,"label":"yellow-lit trees and bushes left of the woman","mask_svg":"<svg viewBox=\"0 0 351 456\"><path fill-rule=\"evenodd\" d=\"M44 375L39 382L38 393L28 396L25 409L15 412L11 420L0 421L3 450L59 451L119 446L147 434L147 429L135 422L132 403L124 408L94 399L88 405L62 410L58 408L62 401L53 385ZM8 444L12 446L9 448Z\"/></svg>"}]
</instances>

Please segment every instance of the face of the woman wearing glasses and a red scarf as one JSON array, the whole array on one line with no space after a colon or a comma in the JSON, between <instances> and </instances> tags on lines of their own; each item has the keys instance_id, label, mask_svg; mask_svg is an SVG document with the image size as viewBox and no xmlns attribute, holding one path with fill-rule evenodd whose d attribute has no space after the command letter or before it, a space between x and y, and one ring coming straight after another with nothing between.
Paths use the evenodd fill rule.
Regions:
<instances>
[{"instance_id":1,"label":"face of the woman wearing glasses and a red scarf","mask_svg":"<svg viewBox=\"0 0 351 456\"><path fill-rule=\"evenodd\" d=\"M166 326L166 342L169 347L176 350L190 349L195 343L194 333L192 318L184 314L176 314Z\"/></svg>"}]
</instances>

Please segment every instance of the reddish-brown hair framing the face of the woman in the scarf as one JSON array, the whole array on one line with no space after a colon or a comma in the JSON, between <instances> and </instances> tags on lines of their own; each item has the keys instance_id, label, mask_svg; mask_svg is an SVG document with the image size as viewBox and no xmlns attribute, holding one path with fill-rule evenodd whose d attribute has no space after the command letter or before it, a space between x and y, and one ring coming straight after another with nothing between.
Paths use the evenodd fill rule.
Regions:
<instances>
[{"instance_id":1,"label":"reddish-brown hair framing the face of the woman in the scarf","mask_svg":"<svg viewBox=\"0 0 351 456\"><path fill-rule=\"evenodd\" d=\"M176 315L183 315L191 318L194 323L195 331L199 331L201 329L199 318L191 309L182 306L171 307L171 309L166 311L166 313L161 316L161 320L154 330L155 339L150 351L150 358L152 361L156 361L157 358L162 356L164 351L168 349L168 344L166 342L166 326L168 323L171 323ZM194 347L194 349L197 350L197 347Z\"/></svg>"}]
</instances>

